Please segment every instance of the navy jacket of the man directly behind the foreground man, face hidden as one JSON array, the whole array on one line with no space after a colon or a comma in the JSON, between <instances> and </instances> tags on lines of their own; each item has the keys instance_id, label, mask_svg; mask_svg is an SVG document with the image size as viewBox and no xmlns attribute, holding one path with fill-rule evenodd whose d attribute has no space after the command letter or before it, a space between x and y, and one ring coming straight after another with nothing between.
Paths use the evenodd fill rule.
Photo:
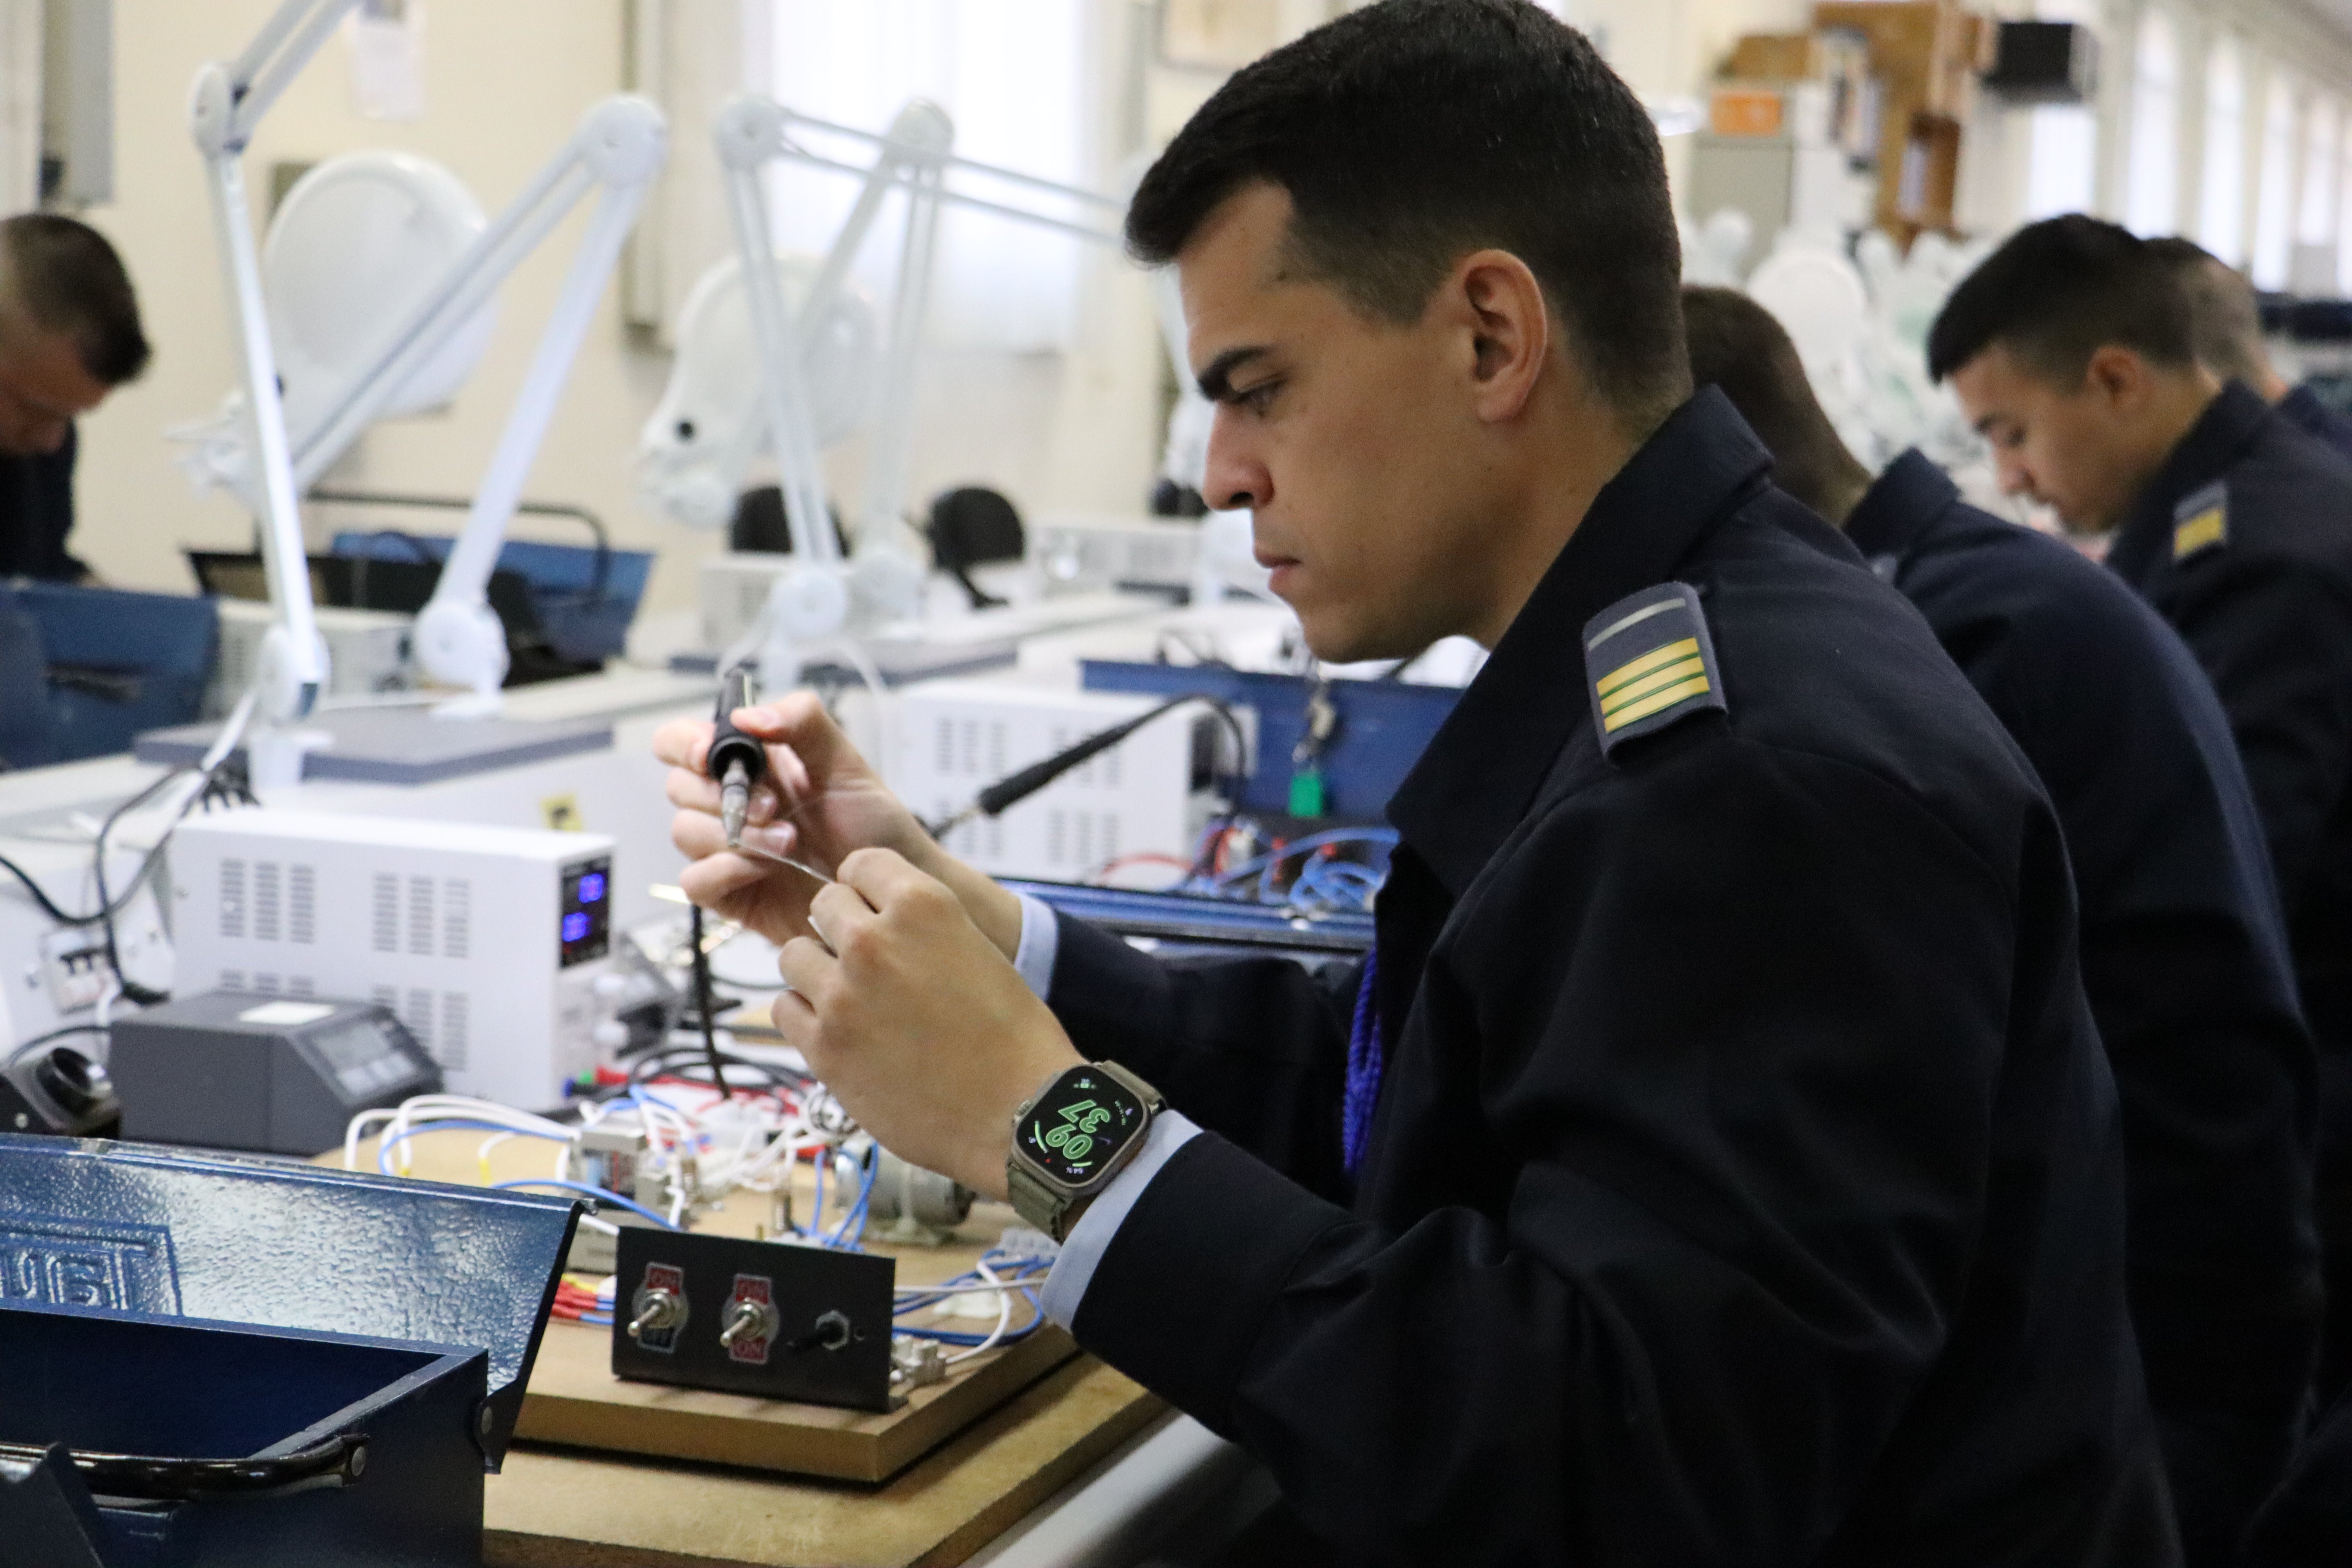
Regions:
<instances>
[{"instance_id":1,"label":"navy jacket of the man directly behind the foreground man, face hidden","mask_svg":"<svg viewBox=\"0 0 2352 1568\"><path fill-rule=\"evenodd\" d=\"M2131 1316L2192 1563L2279 1483L2319 1349L2312 1041L2230 719L2114 574L1896 458L1846 520L2042 776L2124 1107Z\"/></svg>"}]
</instances>

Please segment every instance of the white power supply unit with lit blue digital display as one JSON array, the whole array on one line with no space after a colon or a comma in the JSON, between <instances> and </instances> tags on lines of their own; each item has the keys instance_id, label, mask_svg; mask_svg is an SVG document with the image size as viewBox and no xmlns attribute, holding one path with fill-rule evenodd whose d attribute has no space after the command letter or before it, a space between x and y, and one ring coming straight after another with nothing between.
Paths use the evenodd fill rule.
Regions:
<instances>
[{"instance_id":1,"label":"white power supply unit with lit blue digital display","mask_svg":"<svg viewBox=\"0 0 2352 1568\"><path fill-rule=\"evenodd\" d=\"M381 1001L452 1093L562 1105L597 1063L612 839L245 809L172 839L174 990Z\"/></svg>"}]
</instances>

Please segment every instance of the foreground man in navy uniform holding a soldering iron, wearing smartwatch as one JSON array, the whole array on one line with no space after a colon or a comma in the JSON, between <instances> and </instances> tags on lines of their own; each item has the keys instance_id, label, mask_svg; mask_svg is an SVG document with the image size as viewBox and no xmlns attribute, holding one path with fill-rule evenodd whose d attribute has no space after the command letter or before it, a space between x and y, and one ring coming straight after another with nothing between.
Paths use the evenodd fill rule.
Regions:
<instances>
[{"instance_id":1,"label":"foreground man in navy uniform holding a soldering iron, wearing smartwatch","mask_svg":"<svg viewBox=\"0 0 2352 1568\"><path fill-rule=\"evenodd\" d=\"M2058 823L1689 395L1642 103L1534 5L1385 0L1221 87L1129 242L1315 651L1491 661L1352 997L1056 924L793 698L746 849L811 898L666 729L811 1070L1343 1561L2178 1561Z\"/></svg>"}]
</instances>

